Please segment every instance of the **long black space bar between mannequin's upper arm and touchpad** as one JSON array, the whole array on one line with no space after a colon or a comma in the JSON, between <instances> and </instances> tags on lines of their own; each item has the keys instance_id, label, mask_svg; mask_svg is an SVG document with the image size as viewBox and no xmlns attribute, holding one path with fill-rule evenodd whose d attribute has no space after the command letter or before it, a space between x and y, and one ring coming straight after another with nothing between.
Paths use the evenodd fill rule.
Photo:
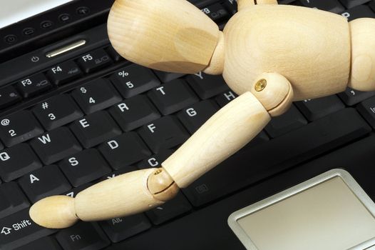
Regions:
<instances>
[{"instance_id":1,"label":"long black space bar between mannequin's upper arm and touchpad","mask_svg":"<svg viewBox=\"0 0 375 250\"><path fill-rule=\"evenodd\" d=\"M183 189L183 193L194 206L202 206L346 145L370 131L354 109L342 109L267 143L242 149Z\"/></svg>"}]
</instances>

